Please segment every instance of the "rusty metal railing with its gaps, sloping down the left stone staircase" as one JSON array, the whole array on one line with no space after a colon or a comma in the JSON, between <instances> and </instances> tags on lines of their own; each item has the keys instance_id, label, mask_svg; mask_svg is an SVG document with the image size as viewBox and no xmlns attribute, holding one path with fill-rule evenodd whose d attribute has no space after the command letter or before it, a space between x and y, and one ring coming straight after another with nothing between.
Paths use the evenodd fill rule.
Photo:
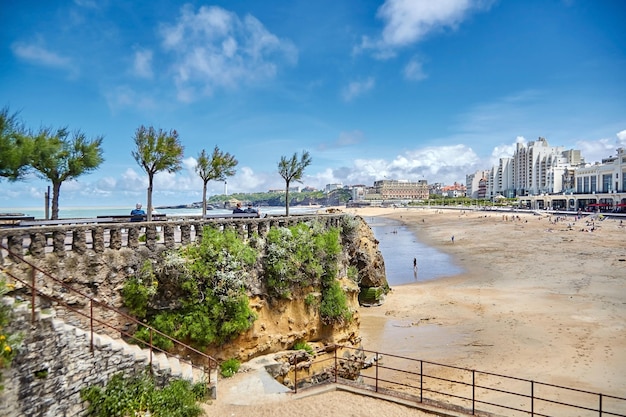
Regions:
<instances>
[{"instance_id":1,"label":"rusty metal railing with its gaps, sloping down the left stone staircase","mask_svg":"<svg viewBox=\"0 0 626 417\"><path fill-rule=\"evenodd\" d=\"M148 360L151 371L153 371L152 365L154 356L157 353L162 353L168 357L177 358L181 363L186 363L191 366L192 369L201 371L202 374L206 377L205 381L207 384L217 383L217 381L211 381L211 370L217 369L218 366L217 360L213 357L207 355L206 353L200 352L199 350L179 340L176 340L157 329L148 326L145 323L140 322L136 318L118 310L115 307L107 305L106 303L103 303L96 298L90 297L89 295L75 288L72 288L70 285L53 277L46 271L43 271L36 265L24 259L21 255L10 251L4 245L0 244L0 249L7 251L11 259L17 260L30 268L30 281L28 281L11 273L9 270L7 270L6 267L0 264L0 270L2 270L4 274L17 282L20 282L24 287L30 289L32 322L35 322L36 320L37 297L40 297L48 300L50 304L60 305L67 311L74 314L73 318L70 318L70 315L67 315L67 317L72 321L75 321L76 318L78 318L79 324L76 327L82 328L83 330L85 329L85 327L89 328L89 344L91 352L93 352L94 350L94 336L96 334L113 333L119 335L122 340L127 343L133 343L141 348L148 349ZM45 279L47 279L47 282L45 282L46 285L43 285L43 283L40 283L39 286L37 285L37 274L40 274L42 277L45 277ZM50 286L56 286L56 288L50 288ZM86 308L75 308L70 305L70 303L63 300L63 298L72 297L76 297L80 301L82 301L82 304L85 305ZM76 304L75 299L73 300L72 304ZM80 317L82 317L84 320L80 320ZM124 323L124 325L116 326L112 324L116 322ZM138 329L145 328L149 334L149 341L139 339L133 333L129 332L128 328L131 326L137 326ZM155 346L153 344L155 338L169 341L169 343L173 345L173 349L171 350L174 350L177 353L172 353L170 351L161 349L158 346ZM190 359L192 357L193 359ZM197 365L196 363L201 363L201 365Z\"/></svg>"}]
</instances>

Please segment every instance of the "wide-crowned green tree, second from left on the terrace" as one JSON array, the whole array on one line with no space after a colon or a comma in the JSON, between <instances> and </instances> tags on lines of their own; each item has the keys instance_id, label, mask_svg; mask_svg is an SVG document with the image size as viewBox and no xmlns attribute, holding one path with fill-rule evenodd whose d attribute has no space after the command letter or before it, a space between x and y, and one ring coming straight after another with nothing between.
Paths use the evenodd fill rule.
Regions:
<instances>
[{"instance_id":1,"label":"wide-crowned green tree, second from left on the terrace","mask_svg":"<svg viewBox=\"0 0 626 417\"><path fill-rule=\"evenodd\" d=\"M43 179L52 182L52 219L59 218L59 193L64 181L97 169L102 157L102 136L88 140L77 130L70 138L67 128L53 131L42 128L31 137L33 151L30 165Z\"/></svg>"}]
</instances>

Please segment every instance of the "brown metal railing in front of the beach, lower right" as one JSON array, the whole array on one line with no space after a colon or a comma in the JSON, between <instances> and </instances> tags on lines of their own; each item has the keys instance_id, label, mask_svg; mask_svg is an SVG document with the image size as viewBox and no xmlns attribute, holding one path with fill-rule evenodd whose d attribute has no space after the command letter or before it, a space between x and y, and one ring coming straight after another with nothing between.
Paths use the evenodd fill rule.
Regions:
<instances>
[{"instance_id":1,"label":"brown metal railing in front of the beach, lower right","mask_svg":"<svg viewBox=\"0 0 626 417\"><path fill-rule=\"evenodd\" d=\"M328 379L334 379L332 382L338 384L470 415L626 417L625 397L365 349L361 352L372 354L373 359L351 359L359 356L339 356L343 349L354 351L354 347L336 346L334 357L314 360L311 369L323 369L323 373L330 375ZM363 382L356 383L341 377L346 365L347 368L371 366L361 371ZM298 372L298 367L295 368L296 392L298 385L303 387L310 381L320 381L318 376L303 375L305 372Z\"/></svg>"}]
</instances>

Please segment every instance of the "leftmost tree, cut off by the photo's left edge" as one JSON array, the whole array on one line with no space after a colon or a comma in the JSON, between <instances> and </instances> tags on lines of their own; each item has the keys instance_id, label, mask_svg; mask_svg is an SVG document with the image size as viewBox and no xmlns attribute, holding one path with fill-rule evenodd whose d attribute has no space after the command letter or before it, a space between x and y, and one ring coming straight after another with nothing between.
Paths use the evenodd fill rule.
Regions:
<instances>
[{"instance_id":1,"label":"leftmost tree, cut off by the photo's left edge","mask_svg":"<svg viewBox=\"0 0 626 417\"><path fill-rule=\"evenodd\" d=\"M33 142L17 113L9 114L8 107L0 110L0 178L23 179L30 167L32 151Z\"/></svg>"}]
</instances>

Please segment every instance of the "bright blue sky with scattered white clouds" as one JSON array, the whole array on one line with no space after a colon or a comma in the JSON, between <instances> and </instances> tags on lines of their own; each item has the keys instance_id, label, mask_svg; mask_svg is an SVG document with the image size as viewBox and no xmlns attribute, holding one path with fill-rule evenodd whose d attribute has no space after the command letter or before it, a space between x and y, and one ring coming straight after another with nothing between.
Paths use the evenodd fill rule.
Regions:
<instances>
[{"instance_id":1,"label":"bright blue sky with scattered white clouds","mask_svg":"<svg viewBox=\"0 0 626 417\"><path fill-rule=\"evenodd\" d=\"M182 169L155 205L201 201L195 161L238 160L209 195L302 186L465 183L539 137L587 162L626 146L622 0L0 0L0 108L33 131L103 137L63 206L146 201L136 130L179 133ZM0 182L0 208L49 182Z\"/></svg>"}]
</instances>

